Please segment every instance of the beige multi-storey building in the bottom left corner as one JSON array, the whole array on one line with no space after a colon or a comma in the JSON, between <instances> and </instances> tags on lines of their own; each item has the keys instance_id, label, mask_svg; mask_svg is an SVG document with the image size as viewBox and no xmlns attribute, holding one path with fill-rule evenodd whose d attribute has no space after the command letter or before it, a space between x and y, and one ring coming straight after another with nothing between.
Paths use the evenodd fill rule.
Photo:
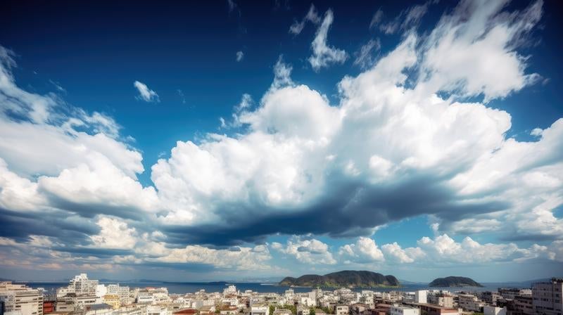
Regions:
<instances>
[{"instance_id":1,"label":"beige multi-storey building in the bottom left corner","mask_svg":"<svg viewBox=\"0 0 563 315\"><path fill-rule=\"evenodd\" d=\"M43 315L43 292L11 281L0 282L0 302L6 313Z\"/></svg>"}]
</instances>

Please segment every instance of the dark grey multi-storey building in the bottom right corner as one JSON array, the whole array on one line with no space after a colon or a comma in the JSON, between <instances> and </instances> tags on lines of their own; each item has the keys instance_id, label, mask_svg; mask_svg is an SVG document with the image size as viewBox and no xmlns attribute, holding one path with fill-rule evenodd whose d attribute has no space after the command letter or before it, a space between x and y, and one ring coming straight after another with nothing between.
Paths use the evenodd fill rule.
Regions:
<instances>
[{"instance_id":1,"label":"dark grey multi-storey building in the bottom right corner","mask_svg":"<svg viewBox=\"0 0 563 315\"><path fill-rule=\"evenodd\" d=\"M532 285L533 309L538 315L563 314L563 278Z\"/></svg>"}]
</instances>

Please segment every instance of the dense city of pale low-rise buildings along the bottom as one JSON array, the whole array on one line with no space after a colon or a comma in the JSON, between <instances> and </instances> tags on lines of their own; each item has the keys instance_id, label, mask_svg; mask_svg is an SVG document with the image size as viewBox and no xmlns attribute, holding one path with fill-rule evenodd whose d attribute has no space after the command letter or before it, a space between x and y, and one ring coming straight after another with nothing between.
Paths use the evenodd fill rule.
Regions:
<instances>
[{"instance_id":1,"label":"dense city of pale low-rise buildings along the bottom","mask_svg":"<svg viewBox=\"0 0 563 315\"><path fill-rule=\"evenodd\" d=\"M166 287L103 284L80 274L67 286L44 288L0 282L2 315L561 315L563 278L531 288L494 291L465 288L378 291L308 288L296 293L241 291L224 283L222 292L169 293Z\"/></svg>"}]
</instances>

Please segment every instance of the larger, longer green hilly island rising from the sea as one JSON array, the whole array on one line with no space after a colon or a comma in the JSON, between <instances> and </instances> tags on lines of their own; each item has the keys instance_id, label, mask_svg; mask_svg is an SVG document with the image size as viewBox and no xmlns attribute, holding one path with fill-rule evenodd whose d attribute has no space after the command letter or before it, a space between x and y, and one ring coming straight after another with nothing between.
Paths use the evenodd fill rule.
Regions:
<instances>
[{"instance_id":1,"label":"larger, longer green hilly island rising from the sea","mask_svg":"<svg viewBox=\"0 0 563 315\"><path fill-rule=\"evenodd\" d=\"M372 271L344 270L325 274L306 274L299 278L286 277L279 285L314 288L398 288L395 276L384 276Z\"/></svg>"}]
</instances>

